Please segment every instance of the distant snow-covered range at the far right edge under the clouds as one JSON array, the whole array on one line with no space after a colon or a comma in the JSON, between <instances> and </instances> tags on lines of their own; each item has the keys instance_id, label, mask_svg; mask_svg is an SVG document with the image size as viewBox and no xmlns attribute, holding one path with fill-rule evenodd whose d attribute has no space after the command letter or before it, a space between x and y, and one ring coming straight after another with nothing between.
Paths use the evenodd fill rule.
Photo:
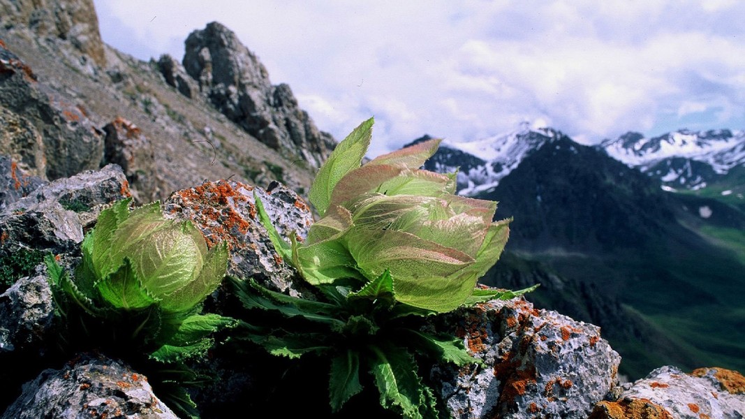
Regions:
<instances>
[{"instance_id":1,"label":"distant snow-covered range at the far right edge under the clouds","mask_svg":"<svg viewBox=\"0 0 745 419\"><path fill-rule=\"evenodd\" d=\"M630 132L598 147L673 188L701 189L745 166L745 131L679 130L654 138Z\"/></svg>"}]
</instances>

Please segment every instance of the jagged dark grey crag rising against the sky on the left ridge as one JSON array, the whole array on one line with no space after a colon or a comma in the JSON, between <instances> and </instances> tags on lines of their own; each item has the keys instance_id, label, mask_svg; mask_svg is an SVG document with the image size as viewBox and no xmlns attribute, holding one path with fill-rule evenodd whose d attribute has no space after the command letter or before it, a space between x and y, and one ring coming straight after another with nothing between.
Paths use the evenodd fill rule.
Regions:
<instances>
[{"instance_id":1,"label":"jagged dark grey crag rising against the sky on the left ridge","mask_svg":"<svg viewBox=\"0 0 745 419\"><path fill-rule=\"evenodd\" d=\"M221 113L270 148L313 167L334 148L332 136L298 107L290 86L273 86L259 58L218 22L188 36L183 66Z\"/></svg>"}]
</instances>

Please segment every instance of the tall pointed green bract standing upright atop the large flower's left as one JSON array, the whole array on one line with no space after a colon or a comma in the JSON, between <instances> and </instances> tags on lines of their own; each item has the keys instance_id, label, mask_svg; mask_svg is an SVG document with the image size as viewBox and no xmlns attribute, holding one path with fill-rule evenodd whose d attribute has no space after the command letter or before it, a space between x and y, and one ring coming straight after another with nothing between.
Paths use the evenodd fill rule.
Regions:
<instances>
[{"instance_id":1,"label":"tall pointed green bract standing upright atop the large flower's left","mask_svg":"<svg viewBox=\"0 0 745 419\"><path fill-rule=\"evenodd\" d=\"M339 180L350 171L360 167L367 148L370 146L374 122L374 119L370 118L356 127L336 146L329 159L323 163L316 174L308 192L308 199L321 216L329 208L332 192Z\"/></svg>"}]
</instances>

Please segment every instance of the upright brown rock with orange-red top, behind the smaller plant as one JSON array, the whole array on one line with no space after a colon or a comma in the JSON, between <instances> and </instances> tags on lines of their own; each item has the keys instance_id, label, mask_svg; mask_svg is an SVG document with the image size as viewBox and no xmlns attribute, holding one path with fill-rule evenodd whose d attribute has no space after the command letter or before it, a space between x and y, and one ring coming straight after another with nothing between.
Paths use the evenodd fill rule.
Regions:
<instances>
[{"instance_id":1,"label":"upright brown rock with orange-red top, behind the smaller plant","mask_svg":"<svg viewBox=\"0 0 745 419\"><path fill-rule=\"evenodd\" d=\"M156 180L153 146L142 130L124 118L104 127L104 163L121 167L133 197L141 204L154 201L162 192Z\"/></svg>"}]
</instances>

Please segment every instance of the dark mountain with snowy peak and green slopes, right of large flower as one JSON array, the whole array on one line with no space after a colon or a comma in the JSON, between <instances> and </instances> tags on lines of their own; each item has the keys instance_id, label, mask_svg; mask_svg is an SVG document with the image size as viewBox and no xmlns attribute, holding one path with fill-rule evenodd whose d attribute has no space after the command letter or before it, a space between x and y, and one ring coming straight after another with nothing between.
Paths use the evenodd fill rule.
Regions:
<instances>
[{"instance_id":1,"label":"dark mountain with snowy peak and green slopes, right of large flower","mask_svg":"<svg viewBox=\"0 0 745 419\"><path fill-rule=\"evenodd\" d=\"M736 355L745 334L733 332L745 321L745 277L733 274L745 271L738 207L666 192L551 129L446 144L431 160L425 167L445 171L466 163L460 193L499 201L498 218L513 217L505 256L483 283L542 283L528 299L603 327L630 377L665 363L745 366Z\"/></svg>"}]
</instances>

